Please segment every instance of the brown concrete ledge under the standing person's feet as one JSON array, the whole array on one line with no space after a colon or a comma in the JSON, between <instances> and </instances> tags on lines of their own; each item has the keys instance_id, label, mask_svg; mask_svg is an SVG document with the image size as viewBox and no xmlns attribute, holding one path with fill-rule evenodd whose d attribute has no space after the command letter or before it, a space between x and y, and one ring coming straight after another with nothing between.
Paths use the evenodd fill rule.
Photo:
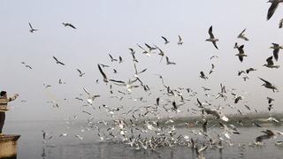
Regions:
<instances>
[{"instance_id":1,"label":"brown concrete ledge under the standing person's feet","mask_svg":"<svg viewBox=\"0 0 283 159\"><path fill-rule=\"evenodd\" d=\"M0 159L17 158L17 141L20 135L0 135Z\"/></svg>"}]
</instances>

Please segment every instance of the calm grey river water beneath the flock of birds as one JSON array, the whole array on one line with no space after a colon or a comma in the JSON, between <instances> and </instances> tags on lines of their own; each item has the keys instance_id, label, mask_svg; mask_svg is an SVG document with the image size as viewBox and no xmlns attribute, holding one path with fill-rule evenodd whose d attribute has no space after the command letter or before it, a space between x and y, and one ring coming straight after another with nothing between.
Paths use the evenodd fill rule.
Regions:
<instances>
[{"instance_id":1,"label":"calm grey river water beneath the flock of birds","mask_svg":"<svg viewBox=\"0 0 283 159\"><path fill-rule=\"evenodd\" d=\"M283 130L282 126L267 127L271 130ZM103 129L103 128L101 128ZM106 129L106 128L105 128ZM198 132L200 128L195 128ZM283 147L275 146L275 142L283 140L282 136L264 140L264 146L254 146L256 136L262 135L262 130L256 126L239 127L241 134L231 135L233 144L224 143L224 148L207 148L203 152L205 158L283 158ZM42 130L47 133L46 142L42 141ZM213 132L221 133L219 127ZM103 131L103 130L101 130ZM105 131L105 130L104 130ZM176 133L187 135L194 140L201 140L199 135L191 133L192 128L176 127ZM99 141L97 131L89 130L83 122L68 123L65 121L36 121L36 122L6 122L5 133L21 135L19 139L19 159L182 159L197 158L195 150L187 146L174 146L150 149L134 149L125 143L117 141ZM66 136L60 134L67 133ZM147 134L147 133L146 133ZM75 137L80 135L82 140ZM148 133L150 136L150 133Z\"/></svg>"}]
</instances>

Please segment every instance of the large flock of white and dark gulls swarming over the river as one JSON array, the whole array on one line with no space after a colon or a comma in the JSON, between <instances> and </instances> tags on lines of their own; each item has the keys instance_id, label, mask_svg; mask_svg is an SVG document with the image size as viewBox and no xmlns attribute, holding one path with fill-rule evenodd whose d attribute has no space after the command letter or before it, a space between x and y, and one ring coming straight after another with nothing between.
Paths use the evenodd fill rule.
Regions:
<instances>
[{"instance_id":1,"label":"large flock of white and dark gulls swarming over the river","mask_svg":"<svg viewBox=\"0 0 283 159\"><path fill-rule=\"evenodd\" d=\"M272 5L268 10L267 19L271 19L278 4L283 2L283 0L270 0L269 2L272 3ZM282 27L282 22L283 20L280 20L279 27ZM63 25L65 27L71 27L73 29L76 29L76 27L74 27L70 23L63 23ZM29 27L31 33L38 31L38 29L32 27L30 23ZM212 32L213 31L211 26L208 30L209 38L206 39L206 41L212 42L213 46L218 49L218 38L216 38L216 36ZM245 32L246 29L242 30L241 34L239 34L237 38L243 41L249 41L249 38L246 36ZM164 40L164 45L167 45L171 42L164 36L161 36L161 38ZM183 45L183 40L180 35L178 36L178 38L179 41L176 42L176 44L178 44L179 46ZM138 49L142 50L143 55L146 55L148 57L151 57L153 55L160 56L160 63L165 57L165 64L176 64L176 62L172 62L170 58L165 55L164 50L161 49L161 47L158 47L157 45L150 45L149 43L144 43L144 46L142 46L141 44L137 44L137 47ZM244 44L239 46L238 42L235 42L234 49L237 49L239 51L239 53L237 53L235 56L239 57L239 60L242 63L244 61L244 57L247 57L244 51ZM283 49L283 47L277 43L272 43L271 49L273 49L273 54L272 56L267 57L266 64L264 64L263 66L271 69L278 69L279 65L274 64L273 57L277 62L279 60L279 49ZM88 115L88 126L86 128L88 131L96 130L97 135L101 141L119 141L119 143L125 143L126 145L134 149L149 149L157 152L157 148L187 146L189 148L192 148L192 150L196 152L198 158L204 158L203 152L207 148L218 148L221 150L222 148L224 148L223 143L226 143L230 146L234 144L231 140L231 136L233 134L241 134L241 132L236 128L235 125L228 123L229 117L226 117L222 110L224 108L230 108L232 110L236 110L239 114L242 114L242 110L233 106L233 104L236 105L238 103L242 103L247 110L252 110L252 108L247 102L241 102L244 101L244 96L237 94L236 89L228 89L223 84L220 84L220 90L216 94L212 93L210 88L203 87L203 93L205 93L205 96L208 99L204 100L204 102L201 102L199 97L197 97L199 93L193 91L191 88L173 88L167 86L165 84L164 77L160 74L157 74L157 79L160 79L160 84L163 87L159 90L152 90L149 85L142 81L142 74L147 72L148 68L142 69L142 71L139 70L137 68L137 64L140 63L140 60L136 58L136 51L133 48L130 48L129 50L132 57L132 62L134 63L134 74L128 80L124 81L119 79L111 79L111 75L109 72L109 69L111 69L111 65L109 64L97 64L97 69L102 75L103 83L105 83L106 86L109 87L109 97L111 99L114 100L115 98L117 98L118 102L121 102L122 100L127 98L128 100L133 100L136 105L139 105L137 102L140 102L142 106L134 107L134 109L130 110L126 110L126 107L120 104L117 104L120 106L116 107L111 107L106 104L97 106L95 101L97 98L101 97L101 95L93 95L88 91L86 87L83 87L82 89L87 95L87 99L84 99L82 97L82 94L80 94L80 97L77 96L74 99L80 102L86 102L83 106L93 108L96 111L105 111L109 117L112 117L112 122L104 120L96 122L94 121L95 116L90 111L82 110L82 113ZM109 54L109 57L111 63L122 64L125 62L122 57L115 58L111 54ZM215 57L218 56L212 56L210 57L210 60ZM53 57L53 59L55 60L56 64L60 64L62 66L65 65L65 63L58 60L57 57ZM33 69L31 65L26 64L25 62L22 62L22 64L24 64L24 66L29 69ZM80 77L85 74L85 72L80 71L80 69L77 69L77 71L79 72ZM112 68L112 71L112 73L118 73L117 68ZM214 71L215 65L211 64L209 74ZM241 74L249 74L250 72L254 71L256 71L255 68L249 68L245 71L239 71L238 75L241 76ZM205 80L209 79L209 77L205 75L204 72L200 72L200 78ZM245 76L243 77L243 79L246 80L249 79L249 77ZM279 91L278 88L275 87L275 85L273 85L267 79L258 79L262 80L263 86L268 89L271 89L272 92ZM96 79L96 84L98 83L99 79ZM59 84L65 84L65 82L59 79ZM44 84L44 86L46 88L51 87L48 84ZM142 90L148 96L157 93L159 93L159 95L157 95L157 98L155 98L155 102L147 100L144 97L134 98L134 95L132 95L133 89L135 89L136 91ZM213 106L214 104L212 103L212 101L220 99L223 99L223 102L225 102L226 105ZM267 110L271 111L273 109L272 102L274 102L274 99L269 96L267 96L266 99L268 102ZM232 100L233 104L231 104L229 100ZM50 103L52 103L57 108L60 107L60 105L55 101L51 101ZM180 113L182 110L185 109L186 105L189 105L187 106L189 108L186 108L187 112L198 115L201 117L201 119L178 125L175 124L178 123L178 119L175 120L174 117L165 119L165 121L163 120L162 114L168 113L172 115L172 113ZM195 108L193 108L192 105L195 105ZM76 119L77 116L74 116L72 118ZM215 123L215 121L217 121L217 124L210 125L210 120L211 123ZM267 118L266 122L272 122L275 124L280 123L280 121L274 117ZM257 127L260 127L262 129L261 133L264 134L256 137L256 139L251 145L263 145L264 140L272 139L276 136L283 135L283 133L279 130L264 128L264 126L258 124L256 121L253 121L252 124L256 125ZM176 129L175 126L180 125L187 126L187 132L192 133L192 135L195 135L197 139L195 140L193 137L178 133L178 129ZM195 125L202 125L202 130L194 129ZM210 127L208 125L210 125ZM221 131L217 133L217 136L215 137L212 135L212 133L215 133L214 127L217 125L220 126ZM237 122L237 125L245 125L245 121L239 120ZM47 138L49 134L45 131L42 131L42 134L44 143L52 139L52 136ZM61 133L58 136L65 137L67 135L68 133ZM84 140L84 137L80 136L79 134L74 135L74 137L79 140ZM203 138L203 140L200 140L201 138ZM275 144L278 146L283 146L283 141L276 141ZM241 144L239 144L239 147L241 147Z\"/></svg>"}]
</instances>

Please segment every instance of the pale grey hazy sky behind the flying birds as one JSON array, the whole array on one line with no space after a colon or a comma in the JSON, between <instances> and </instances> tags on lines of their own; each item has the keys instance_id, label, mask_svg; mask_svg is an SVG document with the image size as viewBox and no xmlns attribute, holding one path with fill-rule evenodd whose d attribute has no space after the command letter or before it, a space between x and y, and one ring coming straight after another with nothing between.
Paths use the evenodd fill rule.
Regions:
<instances>
[{"instance_id":1,"label":"pale grey hazy sky behind the flying birds","mask_svg":"<svg viewBox=\"0 0 283 159\"><path fill-rule=\"evenodd\" d=\"M202 100L206 99L202 86L210 87L217 94L219 83L223 83L228 88L237 88L235 92L245 96L243 102L237 105L243 112L249 112L245 110L244 102L257 110L267 110L267 95L276 99L275 110L282 111L282 68L262 66L265 59L272 55L272 49L269 49L271 43L283 44L283 30L278 28L279 19L283 17L282 6L271 20L266 21L269 6L265 0L3 0L0 5L0 89L6 90L9 95L19 93L19 99L10 103L12 110L7 112L7 119L88 117L82 110L90 111L97 118L109 117L104 110L82 107L85 102L74 99L80 94L83 94L80 96L83 99L87 98L82 87L102 95L94 104L96 108L103 103L111 108L152 105L156 97L161 96L159 89L164 88L155 73L164 76L166 85L191 87L200 92L197 97ZM28 22L39 31L31 34ZM77 29L64 27L62 22L70 22ZM211 42L205 42L211 25L219 39L219 50ZM249 42L236 38L244 28L247 28ZM179 34L183 38L183 46L177 45ZM169 39L169 44L164 45L162 35ZM142 55L142 49L136 43L144 46L144 42L164 49L166 56L177 64L166 65L165 59L159 63L160 57L157 55ZM234 56L238 53L233 49L234 42L245 44L244 50L249 57L245 57L243 63ZM137 88L132 95L119 102L110 98L109 85L103 83L97 64L110 64L111 68L118 70L119 73L113 74L111 68L104 69L110 79L133 79L134 64L128 48L136 51L140 61L138 69L148 68L140 78L149 85L152 95L148 97L142 88ZM125 62L111 63L108 53L116 58L123 57ZM210 61L213 55L219 58ZM65 66L56 64L53 56L64 62ZM33 70L21 62L30 64ZM210 64L215 64L216 72L208 80L200 79L199 72L207 74ZM283 65L281 55L278 64ZM258 71L251 72L250 79L244 82L237 72L249 67L255 67ZM77 68L86 74L79 77ZM263 82L257 77L276 84L280 92L274 94L272 90L261 87ZM59 79L66 84L59 85ZM99 84L96 84L96 79L99 79ZM45 88L43 83L52 87ZM126 91L124 87L113 87L116 91L114 95L119 95L117 90ZM141 96L148 102L127 99ZM195 99L187 102L183 115L186 115L187 108L193 107ZM47 101L58 102L60 108L53 108ZM236 110L226 111L235 113Z\"/></svg>"}]
</instances>

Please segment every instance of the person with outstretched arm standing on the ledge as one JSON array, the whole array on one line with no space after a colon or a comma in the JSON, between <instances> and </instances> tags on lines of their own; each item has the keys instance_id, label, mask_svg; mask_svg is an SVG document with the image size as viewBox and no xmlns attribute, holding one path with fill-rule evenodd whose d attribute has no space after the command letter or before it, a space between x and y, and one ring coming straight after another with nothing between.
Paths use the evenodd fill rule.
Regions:
<instances>
[{"instance_id":1,"label":"person with outstretched arm standing on the ledge","mask_svg":"<svg viewBox=\"0 0 283 159\"><path fill-rule=\"evenodd\" d=\"M7 92L6 91L1 91L0 92L0 135L2 134L2 130L4 127L4 122L5 122L5 111L7 111L7 104L8 102L11 102L15 100L19 95L12 95L11 97L7 97Z\"/></svg>"}]
</instances>

